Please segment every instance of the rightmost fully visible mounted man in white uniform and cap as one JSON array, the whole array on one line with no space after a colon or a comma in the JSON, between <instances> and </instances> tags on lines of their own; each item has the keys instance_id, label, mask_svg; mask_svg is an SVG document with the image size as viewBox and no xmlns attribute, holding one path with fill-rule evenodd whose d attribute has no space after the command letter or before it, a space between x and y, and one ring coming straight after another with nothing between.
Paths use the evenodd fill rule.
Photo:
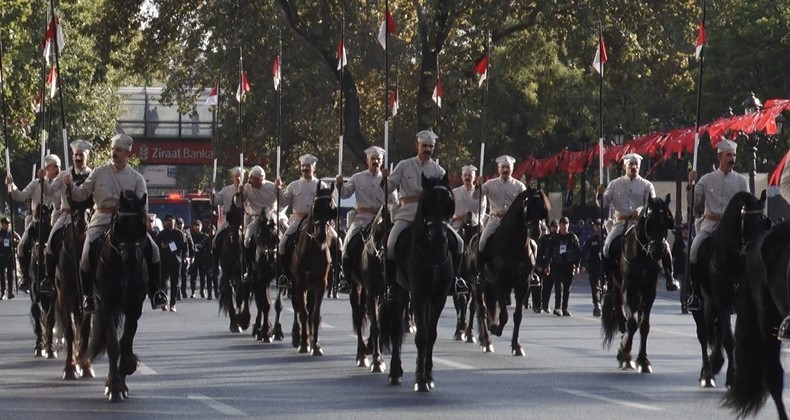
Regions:
<instances>
[{"instance_id":1,"label":"rightmost fully visible mounted man in white uniform and cap","mask_svg":"<svg viewBox=\"0 0 790 420\"><path fill-rule=\"evenodd\" d=\"M735 157L738 145L731 140L723 139L716 145L719 168L707 173L694 185L694 214L698 216L697 236L691 242L689 252L689 264L691 270L687 279L689 280L689 297L686 301L686 309L689 311L700 310L699 284L691 275L695 273L697 255L702 241L713 235L716 227L721 221L721 215L732 200L735 194L741 191L749 191L749 181L745 176L735 172ZM693 185L697 179L697 172L689 173L689 185Z\"/></svg>"}]
</instances>

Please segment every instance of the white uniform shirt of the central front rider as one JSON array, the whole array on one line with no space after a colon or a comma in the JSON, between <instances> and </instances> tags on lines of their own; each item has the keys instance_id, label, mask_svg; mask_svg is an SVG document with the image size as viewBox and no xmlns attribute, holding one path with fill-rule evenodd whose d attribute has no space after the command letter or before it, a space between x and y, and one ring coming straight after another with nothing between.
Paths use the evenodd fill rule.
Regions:
<instances>
[{"instance_id":1,"label":"white uniform shirt of the central front rider","mask_svg":"<svg viewBox=\"0 0 790 420\"><path fill-rule=\"evenodd\" d=\"M401 198L401 205L395 212L395 220L409 222L414 220L419 206L416 200L422 194L422 175L426 178L441 178L444 174L444 168L433 159L423 162L415 156L400 161L387 178L389 190L397 190Z\"/></svg>"}]
</instances>

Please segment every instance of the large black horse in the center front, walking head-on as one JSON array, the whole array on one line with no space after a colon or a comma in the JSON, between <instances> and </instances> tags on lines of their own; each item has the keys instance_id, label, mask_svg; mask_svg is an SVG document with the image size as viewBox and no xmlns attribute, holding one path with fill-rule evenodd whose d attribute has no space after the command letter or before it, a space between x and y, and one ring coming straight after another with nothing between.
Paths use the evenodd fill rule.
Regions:
<instances>
[{"instance_id":1,"label":"large black horse in the center front, walking head-on","mask_svg":"<svg viewBox=\"0 0 790 420\"><path fill-rule=\"evenodd\" d=\"M437 325L455 280L452 249L454 235L449 220L455 211L453 194L447 174L442 178L422 175L420 195L414 221L397 238L398 255L396 284L390 291L382 311L382 334L392 344L392 360L388 382L398 385L403 377L401 346L404 320L408 317L409 295L414 310L417 345L417 367L414 390L428 392L435 387L433 379L433 347Z\"/></svg>"}]
</instances>

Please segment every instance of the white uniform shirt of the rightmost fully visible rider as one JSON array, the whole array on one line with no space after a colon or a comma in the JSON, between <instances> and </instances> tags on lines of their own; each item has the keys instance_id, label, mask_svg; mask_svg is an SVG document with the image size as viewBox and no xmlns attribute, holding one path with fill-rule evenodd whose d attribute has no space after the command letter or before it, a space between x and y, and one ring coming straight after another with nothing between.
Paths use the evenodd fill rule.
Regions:
<instances>
[{"instance_id":1,"label":"white uniform shirt of the rightmost fully visible rider","mask_svg":"<svg viewBox=\"0 0 790 420\"><path fill-rule=\"evenodd\" d=\"M721 169L716 169L703 175L694 186L695 210L699 213L704 208L703 216L721 216L732 197L741 191L749 191L749 181L745 176L735 171L725 174ZM704 219L700 230L713 233L718 224L718 220Z\"/></svg>"}]
</instances>

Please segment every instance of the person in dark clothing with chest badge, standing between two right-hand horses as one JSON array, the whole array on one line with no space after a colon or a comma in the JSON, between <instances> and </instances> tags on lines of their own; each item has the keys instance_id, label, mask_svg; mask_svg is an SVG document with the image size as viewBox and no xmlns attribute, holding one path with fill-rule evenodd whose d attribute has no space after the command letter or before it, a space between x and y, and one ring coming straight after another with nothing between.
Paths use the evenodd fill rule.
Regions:
<instances>
[{"instance_id":1,"label":"person in dark clothing with chest badge, standing between two right-hand horses","mask_svg":"<svg viewBox=\"0 0 790 420\"><path fill-rule=\"evenodd\" d=\"M567 217L560 219L560 229L549 241L546 254L546 275L551 276L554 283L554 315L557 316L571 316L568 311L568 298L573 276L579 272L581 261L579 238L568 231L568 223Z\"/></svg>"}]
</instances>

